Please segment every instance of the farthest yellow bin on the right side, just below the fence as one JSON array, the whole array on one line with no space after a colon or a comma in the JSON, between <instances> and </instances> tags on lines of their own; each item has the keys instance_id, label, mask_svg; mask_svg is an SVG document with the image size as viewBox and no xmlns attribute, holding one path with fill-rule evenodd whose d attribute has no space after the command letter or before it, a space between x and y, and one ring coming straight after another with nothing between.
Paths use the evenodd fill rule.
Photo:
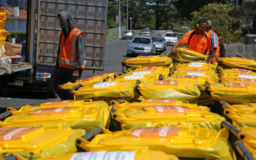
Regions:
<instances>
[{"instance_id":1,"label":"farthest yellow bin on the right side, just below the fence","mask_svg":"<svg viewBox=\"0 0 256 160\"><path fill-rule=\"evenodd\" d=\"M256 61L239 57L219 57L218 64L223 68L242 68L256 71Z\"/></svg>"}]
</instances>

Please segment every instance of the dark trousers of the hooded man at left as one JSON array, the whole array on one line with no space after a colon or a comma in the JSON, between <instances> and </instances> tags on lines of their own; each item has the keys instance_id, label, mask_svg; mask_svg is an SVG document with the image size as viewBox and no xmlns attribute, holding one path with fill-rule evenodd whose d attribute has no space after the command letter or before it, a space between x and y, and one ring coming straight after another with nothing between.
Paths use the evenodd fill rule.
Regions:
<instances>
[{"instance_id":1,"label":"dark trousers of the hooded man at left","mask_svg":"<svg viewBox=\"0 0 256 160\"><path fill-rule=\"evenodd\" d=\"M74 83L75 81L72 80L73 71L74 71L73 69L68 69L63 67L60 67L58 69L57 75L53 83L53 88L61 100L70 100L70 96L68 95L68 92L64 91L63 89L60 89L59 85L62 85L68 82ZM79 79L81 75L82 75L82 70L79 71Z\"/></svg>"}]
</instances>

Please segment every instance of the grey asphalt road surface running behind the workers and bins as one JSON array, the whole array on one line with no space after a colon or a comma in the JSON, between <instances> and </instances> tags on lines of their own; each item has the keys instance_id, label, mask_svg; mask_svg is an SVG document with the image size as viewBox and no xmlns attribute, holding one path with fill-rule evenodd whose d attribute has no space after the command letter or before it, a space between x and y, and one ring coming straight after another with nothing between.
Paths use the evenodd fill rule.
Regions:
<instances>
[{"instance_id":1,"label":"grey asphalt road surface running behind the workers and bins","mask_svg":"<svg viewBox=\"0 0 256 160\"><path fill-rule=\"evenodd\" d=\"M152 36L160 36L163 32L152 31ZM102 73L110 72L122 72L121 60L129 59L131 57L126 57L126 48L128 45L128 40L113 40L106 43L106 54L104 61L104 71L83 71L82 78L88 78L91 76L96 76ZM172 46L168 46L166 52L162 55L167 56L168 52L172 49ZM48 98L45 93L39 92L10 92L4 90L0 95L1 107L14 107L20 104L29 104L32 106L49 102L60 100L59 98Z\"/></svg>"}]
</instances>

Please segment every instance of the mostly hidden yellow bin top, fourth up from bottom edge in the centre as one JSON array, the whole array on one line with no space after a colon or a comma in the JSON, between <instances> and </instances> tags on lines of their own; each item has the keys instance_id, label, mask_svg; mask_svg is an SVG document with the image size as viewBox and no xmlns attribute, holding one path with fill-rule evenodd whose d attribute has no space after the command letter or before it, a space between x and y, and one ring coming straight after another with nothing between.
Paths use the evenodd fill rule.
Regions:
<instances>
[{"instance_id":1,"label":"mostly hidden yellow bin top, fourth up from bottom edge in the centre","mask_svg":"<svg viewBox=\"0 0 256 160\"><path fill-rule=\"evenodd\" d=\"M205 111L210 111L206 106L198 106L197 104L189 104L188 101L180 100L143 100L143 102L133 102L129 103L126 100L112 100L111 104L115 108L128 109L128 108L142 108L146 106L156 106L156 105L177 105L188 108L201 108Z\"/></svg>"}]
</instances>

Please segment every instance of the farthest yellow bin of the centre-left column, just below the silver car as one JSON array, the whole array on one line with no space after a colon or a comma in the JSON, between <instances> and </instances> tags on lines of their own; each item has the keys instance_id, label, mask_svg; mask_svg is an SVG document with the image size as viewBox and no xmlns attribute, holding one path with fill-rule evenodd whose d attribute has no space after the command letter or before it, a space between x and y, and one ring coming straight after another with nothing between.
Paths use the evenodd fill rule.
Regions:
<instances>
[{"instance_id":1,"label":"farthest yellow bin of the centre-left column, just below the silver car","mask_svg":"<svg viewBox=\"0 0 256 160\"><path fill-rule=\"evenodd\" d=\"M148 66L166 66L172 67L172 59L167 56L137 56L128 60L122 60L121 64L126 67L148 67Z\"/></svg>"}]
</instances>

